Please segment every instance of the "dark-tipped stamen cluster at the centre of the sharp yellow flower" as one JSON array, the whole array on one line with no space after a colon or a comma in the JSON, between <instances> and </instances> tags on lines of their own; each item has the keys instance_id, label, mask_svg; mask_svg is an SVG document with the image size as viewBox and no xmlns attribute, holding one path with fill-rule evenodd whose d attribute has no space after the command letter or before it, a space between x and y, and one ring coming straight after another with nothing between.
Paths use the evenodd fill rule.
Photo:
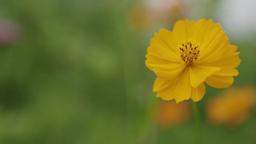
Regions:
<instances>
[{"instance_id":1,"label":"dark-tipped stamen cluster at the centre of the sharp yellow flower","mask_svg":"<svg viewBox=\"0 0 256 144\"><path fill-rule=\"evenodd\" d=\"M179 45L180 58L187 63L187 66L191 65L199 56L200 50L198 50L198 45L191 40L182 41L182 45Z\"/></svg>"}]
</instances>

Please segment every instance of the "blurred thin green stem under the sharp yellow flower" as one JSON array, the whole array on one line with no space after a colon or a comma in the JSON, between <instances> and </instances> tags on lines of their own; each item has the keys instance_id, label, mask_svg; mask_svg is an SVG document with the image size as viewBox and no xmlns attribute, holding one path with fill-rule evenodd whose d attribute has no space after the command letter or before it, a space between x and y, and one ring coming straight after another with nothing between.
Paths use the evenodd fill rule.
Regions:
<instances>
[{"instance_id":1,"label":"blurred thin green stem under the sharp yellow flower","mask_svg":"<svg viewBox=\"0 0 256 144\"><path fill-rule=\"evenodd\" d=\"M196 102L191 101L193 116L196 124L196 144L202 144L202 123L199 109Z\"/></svg>"}]
</instances>

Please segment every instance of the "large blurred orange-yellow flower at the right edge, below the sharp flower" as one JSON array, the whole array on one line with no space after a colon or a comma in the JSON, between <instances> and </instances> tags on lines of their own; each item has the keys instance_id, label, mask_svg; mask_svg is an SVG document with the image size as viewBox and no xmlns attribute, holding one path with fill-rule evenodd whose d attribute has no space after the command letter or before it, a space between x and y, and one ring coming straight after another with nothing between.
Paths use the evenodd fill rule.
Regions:
<instances>
[{"instance_id":1,"label":"large blurred orange-yellow flower at the right edge, below the sharp flower","mask_svg":"<svg viewBox=\"0 0 256 144\"><path fill-rule=\"evenodd\" d=\"M253 87L228 89L210 99L206 105L208 120L215 126L236 128L251 115L255 105L256 89Z\"/></svg>"}]
</instances>

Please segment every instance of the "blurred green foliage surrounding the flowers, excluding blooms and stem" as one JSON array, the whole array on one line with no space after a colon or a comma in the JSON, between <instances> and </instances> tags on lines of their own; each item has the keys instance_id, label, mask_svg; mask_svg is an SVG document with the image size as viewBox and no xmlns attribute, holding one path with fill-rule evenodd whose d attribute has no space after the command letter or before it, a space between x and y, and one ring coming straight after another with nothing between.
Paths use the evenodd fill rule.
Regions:
<instances>
[{"instance_id":1,"label":"blurred green foliage surrounding the flowers, excluding blooms and stem","mask_svg":"<svg viewBox=\"0 0 256 144\"><path fill-rule=\"evenodd\" d=\"M0 45L1 144L183 144L195 140L193 120L158 129L155 75L144 65L159 26L134 31L133 1L4 0L0 18L19 22L22 37ZM170 25L164 26L171 28ZM235 40L234 40L235 42ZM255 85L253 42L241 52L234 85ZM256 139L253 116L236 130L208 126L204 105L221 90L207 87L198 102L203 142Z\"/></svg>"}]
</instances>

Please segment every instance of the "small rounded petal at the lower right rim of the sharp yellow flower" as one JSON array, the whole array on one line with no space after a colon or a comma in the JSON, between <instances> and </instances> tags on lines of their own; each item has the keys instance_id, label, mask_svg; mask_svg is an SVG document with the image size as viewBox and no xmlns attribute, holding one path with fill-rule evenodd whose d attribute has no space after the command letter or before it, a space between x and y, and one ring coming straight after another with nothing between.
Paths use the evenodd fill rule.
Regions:
<instances>
[{"instance_id":1,"label":"small rounded petal at the lower right rim of the sharp yellow flower","mask_svg":"<svg viewBox=\"0 0 256 144\"><path fill-rule=\"evenodd\" d=\"M205 82L214 88L228 88L233 84L234 78L232 76L217 76L213 74Z\"/></svg>"}]
</instances>

